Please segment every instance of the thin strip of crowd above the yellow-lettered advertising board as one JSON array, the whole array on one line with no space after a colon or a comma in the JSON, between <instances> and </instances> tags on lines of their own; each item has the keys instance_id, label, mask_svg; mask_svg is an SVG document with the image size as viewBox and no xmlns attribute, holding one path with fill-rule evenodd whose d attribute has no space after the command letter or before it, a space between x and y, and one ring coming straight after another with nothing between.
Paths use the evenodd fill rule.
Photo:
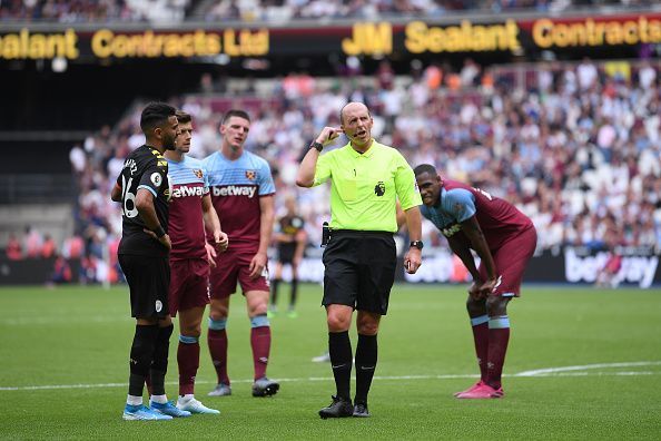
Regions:
<instances>
[{"instance_id":1,"label":"thin strip of crowd above the yellow-lettered advertising board","mask_svg":"<svg viewBox=\"0 0 661 441\"><path fill-rule=\"evenodd\" d=\"M0 20L107 22L185 19L207 21L272 21L297 19L342 19L503 11L560 12L570 8L637 8L650 0L3 0Z\"/></svg>"}]
</instances>

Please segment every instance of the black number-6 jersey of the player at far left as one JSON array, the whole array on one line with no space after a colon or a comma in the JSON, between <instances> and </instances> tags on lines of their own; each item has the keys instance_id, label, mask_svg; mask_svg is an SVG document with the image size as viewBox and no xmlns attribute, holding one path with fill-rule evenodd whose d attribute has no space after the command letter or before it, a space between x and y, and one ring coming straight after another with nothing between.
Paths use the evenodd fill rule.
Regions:
<instances>
[{"instance_id":1,"label":"black number-6 jersey of the player at far left","mask_svg":"<svg viewBox=\"0 0 661 441\"><path fill-rule=\"evenodd\" d=\"M168 249L145 233L145 223L136 208L138 189L145 188L154 195L154 207L160 226L168 229L168 163L162 155L149 147L141 146L124 161L124 168L117 178L121 187L122 233L118 254L137 254L167 257Z\"/></svg>"}]
</instances>

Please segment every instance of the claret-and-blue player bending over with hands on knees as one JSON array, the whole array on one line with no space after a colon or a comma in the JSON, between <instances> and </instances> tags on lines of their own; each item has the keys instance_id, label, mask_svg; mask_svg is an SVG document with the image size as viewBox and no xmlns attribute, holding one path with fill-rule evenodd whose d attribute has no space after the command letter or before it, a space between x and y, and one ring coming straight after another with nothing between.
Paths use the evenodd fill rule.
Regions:
<instances>
[{"instance_id":1,"label":"claret-and-blue player bending over with hands on knees","mask_svg":"<svg viewBox=\"0 0 661 441\"><path fill-rule=\"evenodd\" d=\"M422 214L443 233L473 276L466 306L480 381L455 396L501 398L501 374L510 340L507 303L519 297L525 265L537 242L535 227L512 204L479 188L443 180L434 166L420 165L414 171L424 204ZM470 248L480 256L480 268Z\"/></svg>"}]
</instances>

